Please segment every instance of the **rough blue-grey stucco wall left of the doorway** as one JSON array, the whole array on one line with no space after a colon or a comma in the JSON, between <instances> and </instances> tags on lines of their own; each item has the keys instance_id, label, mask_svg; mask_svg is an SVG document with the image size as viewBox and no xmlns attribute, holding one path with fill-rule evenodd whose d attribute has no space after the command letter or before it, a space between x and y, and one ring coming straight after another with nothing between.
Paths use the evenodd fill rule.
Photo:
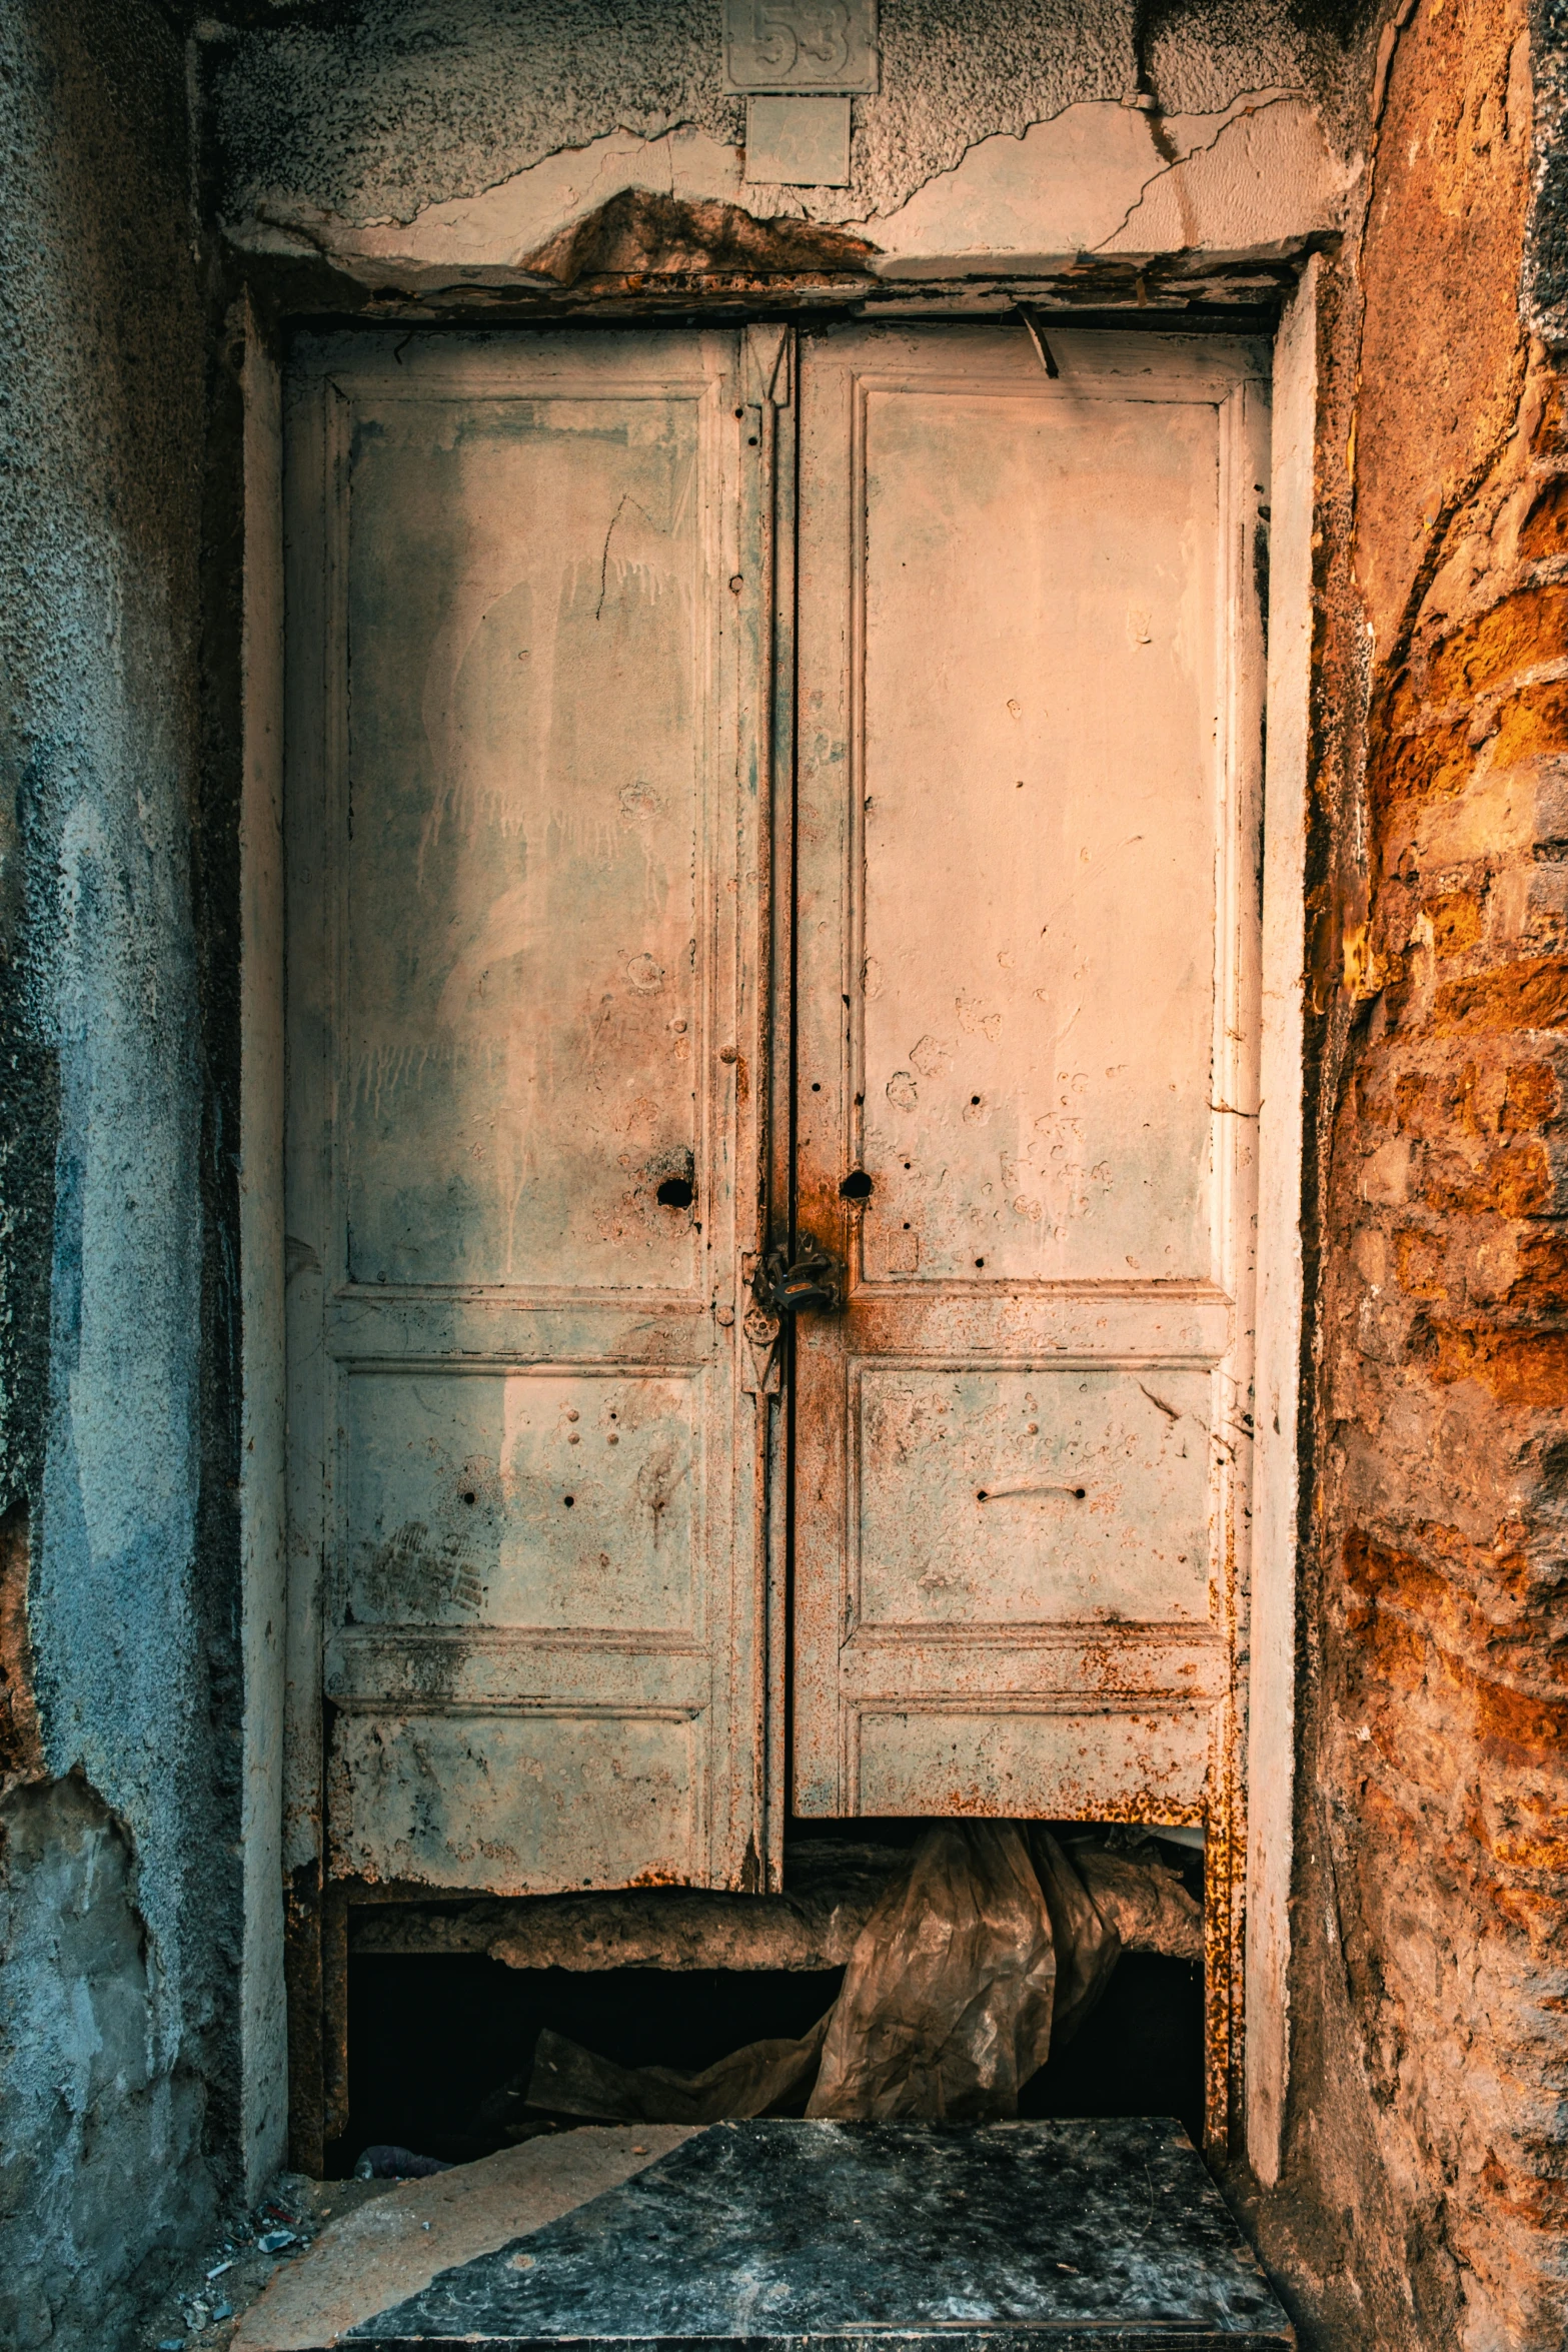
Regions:
<instances>
[{"instance_id":1,"label":"rough blue-grey stucco wall left of the doorway","mask_svg":"<svg viewBox=\"0 0 1568 2352\"><path fill-rule=\"evenodd\" d=\"M207 2225L230 2004L202 301L172 26L38 0L0 56L0 2343L106 2347Z\"/></svg>"}]
</instances>

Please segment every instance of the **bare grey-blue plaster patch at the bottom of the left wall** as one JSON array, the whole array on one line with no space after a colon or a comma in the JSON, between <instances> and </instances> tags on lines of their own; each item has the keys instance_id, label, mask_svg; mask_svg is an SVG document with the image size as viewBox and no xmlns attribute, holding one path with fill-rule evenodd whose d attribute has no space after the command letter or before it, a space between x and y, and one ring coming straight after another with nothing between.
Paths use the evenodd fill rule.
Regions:
<instances>
[{"instance_id":1,"label":"bare grey-blue plaster patch at the bottom of the left wall","mask_svg":"<svg viewBox=\"0 0 1568 2352\"><path fill-rule=\"evenodd\" d=\"M205 2093L153 2042L136 1858L75 1773L0 1797L0 2345L106 2352L207 2223Z\"/></svg>"}]
</instances>

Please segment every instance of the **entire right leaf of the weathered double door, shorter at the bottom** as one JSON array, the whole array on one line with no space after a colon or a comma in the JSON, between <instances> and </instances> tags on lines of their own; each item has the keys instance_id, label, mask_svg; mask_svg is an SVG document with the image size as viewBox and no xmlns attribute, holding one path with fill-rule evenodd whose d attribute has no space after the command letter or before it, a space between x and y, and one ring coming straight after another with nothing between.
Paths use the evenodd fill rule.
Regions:
<instances>
[{"instance_id":1,"label":"entire right leaf of the weathered double door, shorter at the bottom","mask_svg":"<svg viewBox=\"0 0 1568 2352\"><path fill-rule=\"evenodd\" d=\"M1262 353L1051 346L804 343L795 1809L1218 1830Z\"/></svg>"}]
</instances>

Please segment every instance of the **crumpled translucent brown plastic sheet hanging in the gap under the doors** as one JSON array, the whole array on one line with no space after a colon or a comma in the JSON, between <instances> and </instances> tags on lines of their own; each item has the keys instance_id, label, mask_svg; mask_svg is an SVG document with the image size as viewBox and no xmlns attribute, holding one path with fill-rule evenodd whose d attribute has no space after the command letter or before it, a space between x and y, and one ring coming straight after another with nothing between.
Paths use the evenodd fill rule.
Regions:
<instances>
[{"instance_id":1,"label":"crumpled translucent brown plastic sheet hanging in the gap under the doors","mask_svg":"<svg viewBox=\"0 0 1568 2352\"><path fill-rule=\"evenodd\" d=\"M1114 1903L1098 1907L1048 1830L938 1823L860 1929L837 2002L799 2042L750 2042L682 2072L623 2067L543 2032L529 2105L632 2124L1004 2119L1091 2013L1119 1955Z\"/></svg>"}]
</instances>

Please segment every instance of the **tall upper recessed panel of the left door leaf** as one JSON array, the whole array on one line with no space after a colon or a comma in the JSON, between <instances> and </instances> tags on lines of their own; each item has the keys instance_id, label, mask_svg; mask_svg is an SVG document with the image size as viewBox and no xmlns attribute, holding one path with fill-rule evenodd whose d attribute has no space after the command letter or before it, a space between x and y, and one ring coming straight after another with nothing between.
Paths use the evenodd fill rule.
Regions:
<instances>
[{"instance_id":1,"label":"tall upper recessed panel of the left door leaf","mask_svg":"<svg viewBox=\"0 0 1568 2352\"><path fill-rule=\"evenodd\" d=\"M696 1164L715 948L703 423L609 372L599 397L355 402L355 1282L698 1279L658 1185Z\"/></svg>"}]
</instances>

